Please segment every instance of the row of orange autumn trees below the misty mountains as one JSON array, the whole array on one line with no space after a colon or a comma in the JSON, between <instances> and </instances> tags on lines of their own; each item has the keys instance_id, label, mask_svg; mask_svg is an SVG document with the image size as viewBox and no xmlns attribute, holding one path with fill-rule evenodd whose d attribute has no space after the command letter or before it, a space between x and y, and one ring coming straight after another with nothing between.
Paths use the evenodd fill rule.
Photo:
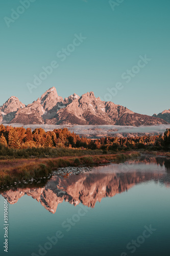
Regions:
<instances>
[{"instance_id":1,"label":"row of orange autumn trees below the misty mountains","mask_svg":"<svg viewBox=\"0 0 170 256\"><path fill-rule=\"evenodd\" d=\"M169 151L170 129L166 129L163 135L90 139L80 137L74 132L71 133L67 128L45 132L41 128L32 131L30 128L25 129L1 124L0 143L12 148L68 147L90 150L101 149L104 151L128 151L143 148Z\"/></svg>"}]
</instances>

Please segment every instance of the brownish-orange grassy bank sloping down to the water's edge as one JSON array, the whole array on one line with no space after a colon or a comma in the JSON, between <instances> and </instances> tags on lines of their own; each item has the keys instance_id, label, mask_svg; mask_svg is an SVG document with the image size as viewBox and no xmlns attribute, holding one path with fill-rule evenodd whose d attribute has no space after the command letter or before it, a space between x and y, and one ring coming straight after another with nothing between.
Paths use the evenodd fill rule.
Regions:
<instances>
[{"instance_id":1,"label":"brownish-orange grassy bank sloping down to the water's edge","mask_svg":"<svg viewBox=\"0 0 170 256\"><path fill-rule=\"evenodd\" d=\"M81 152L80 152L81 153ZM94 151L93 151L94 153ZM124 154L64 156L57 158L13 159L0 161L0 186L14 184L19 180L29 180L48 176L60 167L80 165L100 165L109 162L123 162L129 158L139 157L138 152Z\"/></svg>"}]
</instances>

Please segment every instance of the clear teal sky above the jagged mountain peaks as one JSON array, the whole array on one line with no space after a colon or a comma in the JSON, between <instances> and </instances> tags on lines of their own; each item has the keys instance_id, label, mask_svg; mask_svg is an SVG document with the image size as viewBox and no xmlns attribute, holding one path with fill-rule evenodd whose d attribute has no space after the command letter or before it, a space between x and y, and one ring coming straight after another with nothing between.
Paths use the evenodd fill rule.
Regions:
<instances>
[{"instance_id":1,"label":"clear teal sky above the jagged mountain peaks","mask_svg":"<svg viewBox=\"0 0 170 256\"><path fill-rule=\"evenodd\" d=\"M115 6L108 0L22 1L0 4L0 105L10 96L31 103L55 86L63 98L93 91L141 114L170 108L169 0L115 0ZM86 39L74 49L80 33ZM71 52L61 58L67 47ZM143 65L145 54L150 60ZM35 86L34 75L54 60L58 68ZM108 89L115 91L117 82L122 90L113 96ZM28 83L36 87L32 93Z\"/></svg>"}]
</instances>

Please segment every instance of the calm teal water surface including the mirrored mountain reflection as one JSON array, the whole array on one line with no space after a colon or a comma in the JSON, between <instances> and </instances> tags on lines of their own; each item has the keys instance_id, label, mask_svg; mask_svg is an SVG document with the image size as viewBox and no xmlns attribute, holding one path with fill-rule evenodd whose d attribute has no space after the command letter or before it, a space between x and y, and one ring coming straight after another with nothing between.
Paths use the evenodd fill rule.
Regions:
<instances>
[{"instance_id":1,"label":"calm teal water surface including the mirrored mountain reflection","mask_svg":"<svg viewBox=\"0 0 170 256\"><path fill-rule=\"evenodd\" d=\"M9 252L4 252L4 198ZM0 196L0 255L170 254L170 160L142 157ZM40 249L41 248L41 249Z\"/></svg>"}]
</instances>

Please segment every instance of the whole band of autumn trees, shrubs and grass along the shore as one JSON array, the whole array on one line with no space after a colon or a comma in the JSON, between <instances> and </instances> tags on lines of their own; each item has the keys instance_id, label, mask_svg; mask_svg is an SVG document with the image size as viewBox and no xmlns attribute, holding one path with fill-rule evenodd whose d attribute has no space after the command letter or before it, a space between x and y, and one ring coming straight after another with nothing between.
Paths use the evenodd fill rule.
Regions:
<instances>
[{"instance_id":1,"label":"whole band of autumn trees, shrubs and grass along the shore","mask_svg":"<svg viewBox=\"0 0 170 256\"><path fill-rule=\"evenodd\" d=\"M157 136L92 140L66 128L45 132L0 125L0 189L21 179L47 177L60 167L123 162L140 153L170 157L169 150L170 129Z\"/></svg>"}]
</instances>

